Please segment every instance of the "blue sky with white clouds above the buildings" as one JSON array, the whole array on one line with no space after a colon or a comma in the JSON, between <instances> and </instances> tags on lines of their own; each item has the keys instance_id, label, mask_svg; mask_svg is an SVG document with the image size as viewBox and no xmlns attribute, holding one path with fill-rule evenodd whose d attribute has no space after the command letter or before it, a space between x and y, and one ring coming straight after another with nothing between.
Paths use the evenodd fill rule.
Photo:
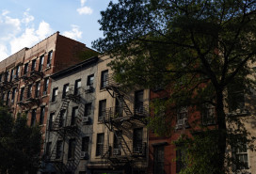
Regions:
<instances>
[{"instance_id":1,"label":"blue sky with white clouds above the buildings","mask_svg":"<svg viewBox=\"0 0 256 174\"><path fill-rule=\"evenodd\" d=\"M98 20L110 0L1 0L0 61L59 31L91 47L103 37Z\"/></svg>"}]
</instances>

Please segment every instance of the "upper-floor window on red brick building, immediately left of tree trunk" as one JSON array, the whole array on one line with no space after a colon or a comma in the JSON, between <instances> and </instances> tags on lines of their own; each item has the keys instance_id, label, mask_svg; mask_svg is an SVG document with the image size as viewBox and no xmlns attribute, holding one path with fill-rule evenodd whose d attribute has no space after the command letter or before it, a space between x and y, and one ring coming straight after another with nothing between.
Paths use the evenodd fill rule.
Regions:
<instances>
[{"instance_id":1,"label":"upper-floor window on red brick building, immediately left of tree trunk","mask_svg":"<svg viewBox=\"0 0 256 174\"><path fill-rule=\"evenodd\" d=\"M215 124L216 108L212 104L203 104L201 109L202 125Z\"/></svg>"}]
</instances>

